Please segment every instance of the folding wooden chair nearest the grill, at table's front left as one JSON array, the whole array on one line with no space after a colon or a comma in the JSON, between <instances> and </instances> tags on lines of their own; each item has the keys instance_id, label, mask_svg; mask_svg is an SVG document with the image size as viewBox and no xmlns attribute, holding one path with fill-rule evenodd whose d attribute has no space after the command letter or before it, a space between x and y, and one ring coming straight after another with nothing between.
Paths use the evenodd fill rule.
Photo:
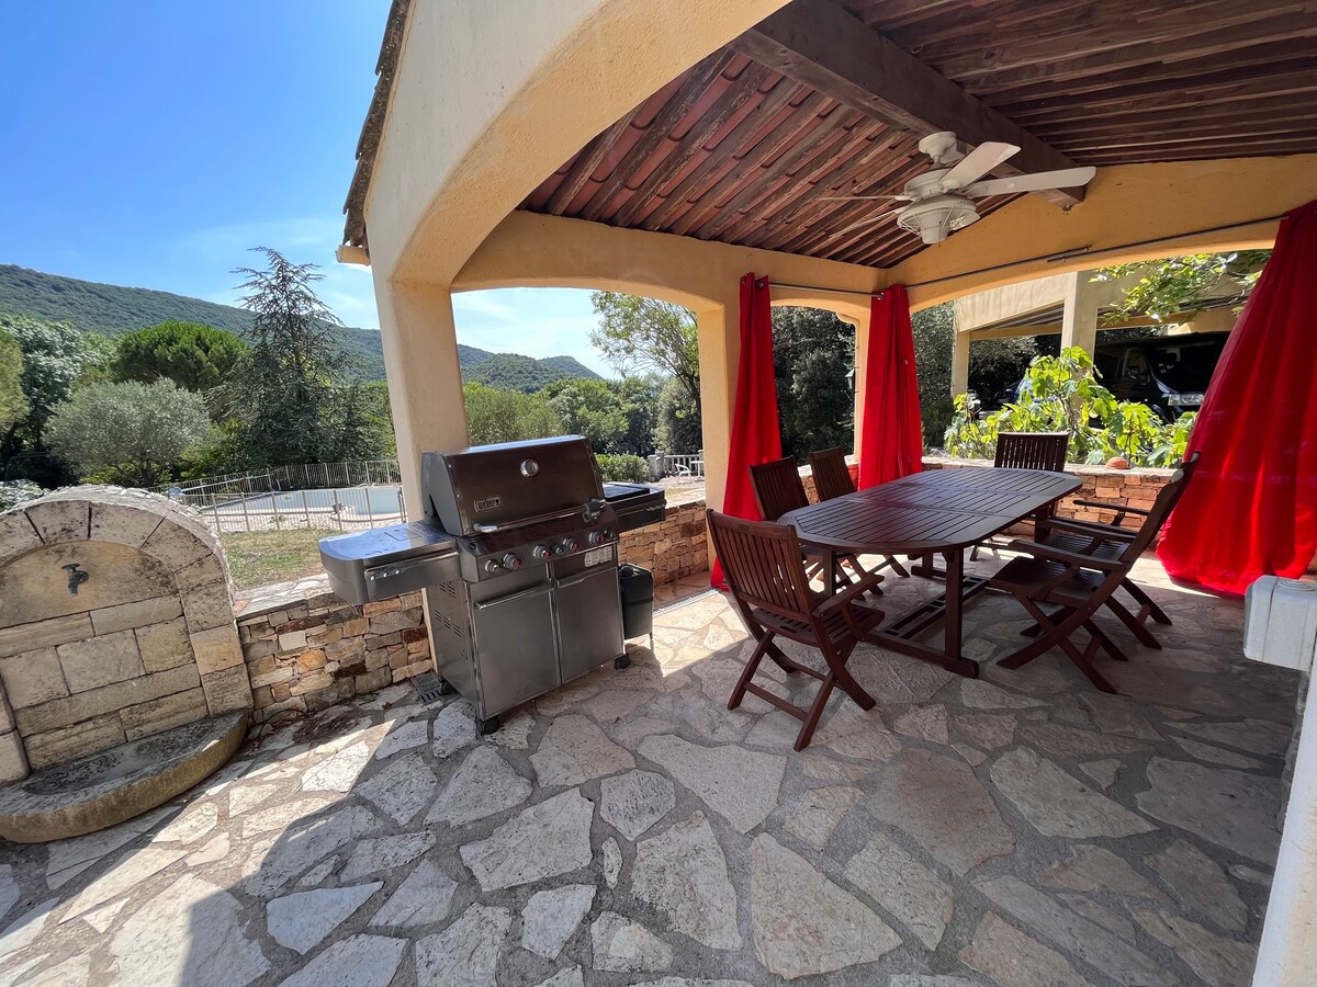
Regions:
<instances>
[{"instance_id":1,"label":"folding wooden chair nearest the grill, at table's front left","mask_svg":"<svg viewBox=\"0 0 1317 987\"><path fill-rule=\"evenodd\" d=\"M882 611L859 601L882 576L871 572L835 596L823 596L810 588L794 528L766 521L743 521L716 511L709 511L706 516L736 609L756 641L755 651L727 700L727 708L735 709L745 694L751 692L790 713L802 721L795 736L795 750L803 750L809 745L834 687L846 692L861 709L872 709L873 696L851 676L846 663L855 645L882 622ZM827 671L817 671L786 657L773 644L774 637L817 647ZM802 671L822 682L809 709L752 680L765 657L788 672Z\"/></svg>"}]
</instances>

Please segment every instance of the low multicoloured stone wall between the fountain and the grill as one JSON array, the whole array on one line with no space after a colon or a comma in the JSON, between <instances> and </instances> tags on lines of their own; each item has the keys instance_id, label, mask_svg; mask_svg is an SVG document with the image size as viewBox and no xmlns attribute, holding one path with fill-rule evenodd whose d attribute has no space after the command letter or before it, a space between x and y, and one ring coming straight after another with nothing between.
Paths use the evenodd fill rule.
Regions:
<instances>
[{"instance_id":1,"label":"low multicoloured stone wall between the fountain and the grill","mask_svg":"<svg viewBox=\"0 0 1317 987\"><path fill-rule=\"evenodd\" d=\"M312 713L433 670L420 594L361 607L329 592L324 576L248 603L238 617L258 722Z\"/></svg>"}]
</instances>

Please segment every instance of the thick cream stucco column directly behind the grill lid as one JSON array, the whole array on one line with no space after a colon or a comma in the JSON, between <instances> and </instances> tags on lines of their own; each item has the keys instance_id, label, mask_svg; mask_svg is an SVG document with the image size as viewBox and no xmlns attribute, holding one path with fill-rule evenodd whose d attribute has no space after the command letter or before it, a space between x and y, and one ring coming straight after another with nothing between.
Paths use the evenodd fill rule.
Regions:
<instances>
[{"instance_id":1,"label":"thick cream stucco column directly behind the grill lid","mask_svg":"<svg viewBox=\"0 0 1317 987\"><path fill-rule=\"evenodd\" d=\"M453 300L452 292L441 286L381 280L377 275L375 299L398 436L398 465L407 516L417 520L425 513L420 454L466 445Z\"/></svg>"}]
</instances>

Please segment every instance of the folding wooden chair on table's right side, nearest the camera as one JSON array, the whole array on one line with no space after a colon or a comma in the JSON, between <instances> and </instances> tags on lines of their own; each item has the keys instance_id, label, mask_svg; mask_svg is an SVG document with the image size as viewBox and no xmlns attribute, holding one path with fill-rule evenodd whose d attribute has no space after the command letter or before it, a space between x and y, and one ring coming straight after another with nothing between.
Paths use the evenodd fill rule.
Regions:
<instances>
[{"instance_id":1,"label":"folding wooden chair on table's right side, nearest the camera","mask_svg":"<svg viewBox=\"0 0 1317 987\"><path fill-rule=\"evenodd\" d=\"M1044 651L1060 647L1089 682L1102 692L1115 692L1093 667L1093 658L1098 650L1105 650L1118 661L1126 661L1126 655L1093 622L1093 617L1100 609L1106 608L1134 632L1139 641L1143 644L1151 641L1150 646L1159 646L1144 626L1151 615L1148 607L1143 605L1137 615L1131 613L1114 594L1126 583L1133 586L1129 580L1130 570L1166 524L1187 483L1185 471L1177 470L1158 494L1156 501L1147 511L1143 525L1137 532L1122 529L1119 536L1113 533L1094 536L1101 538L1102 544L1113 546L1101 554L1069 551L1055 545L1030 541L1013 541L1008 545L1010 551L1019 551L1023 555L1002 566L989 586L1004 590L1019 600L1036 624L1036 637L998 665L1004 669L1018 669ZM1048 613L1043 609L1046 605L1056 605L1059 609ZM1083 650L1071 640L1080 628L1088 630L1090 636Z\"/></svg>"}]
</instances>

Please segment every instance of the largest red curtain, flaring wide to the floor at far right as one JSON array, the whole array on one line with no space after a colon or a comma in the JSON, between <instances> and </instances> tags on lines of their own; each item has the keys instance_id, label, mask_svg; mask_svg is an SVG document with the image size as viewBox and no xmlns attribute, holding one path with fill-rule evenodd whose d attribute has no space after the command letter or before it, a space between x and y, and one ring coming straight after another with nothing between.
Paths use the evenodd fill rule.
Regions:
<instances>
[{"instance_id":1,"label":"largest red curtain, flaring wide to the floor at far right","mask_svg":"<svg viewBox=\"0 0 1317 987\"><path fill-rule=\"evenodd\" d=\"M1158 546L1166 571L1230 594L1303 575L1317 550L1317 201L1280 222L1208 387L1196 449Z\"/></svg>"}]
</instances>

